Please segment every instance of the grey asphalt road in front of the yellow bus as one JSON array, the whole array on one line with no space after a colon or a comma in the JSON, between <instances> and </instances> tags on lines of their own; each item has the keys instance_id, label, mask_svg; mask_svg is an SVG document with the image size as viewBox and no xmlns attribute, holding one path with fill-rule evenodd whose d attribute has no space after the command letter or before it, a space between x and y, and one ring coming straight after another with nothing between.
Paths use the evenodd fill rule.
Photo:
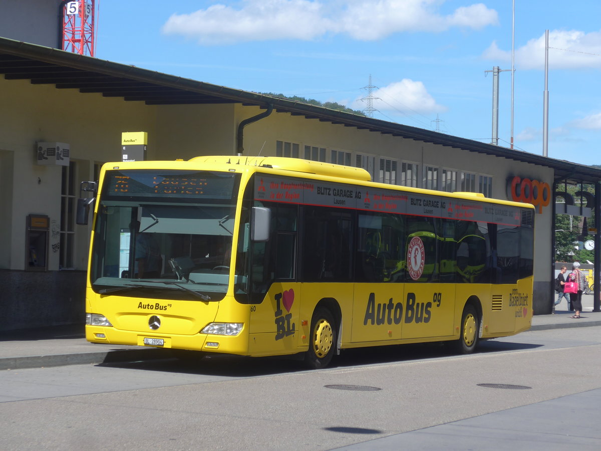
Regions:
<instances>
[{"instance_id":1,"label":"grey asphalt road in front of the yellow bus","mask_svg":"<svg viewBox=\"0 0 601 451\"><path fill-rule=\"evenodd\" d=\"M459 357L359 349L316 371L227 356L5 370L0 449L597 450L600 363L584 327Z\"/></svg>"}]
</instances>

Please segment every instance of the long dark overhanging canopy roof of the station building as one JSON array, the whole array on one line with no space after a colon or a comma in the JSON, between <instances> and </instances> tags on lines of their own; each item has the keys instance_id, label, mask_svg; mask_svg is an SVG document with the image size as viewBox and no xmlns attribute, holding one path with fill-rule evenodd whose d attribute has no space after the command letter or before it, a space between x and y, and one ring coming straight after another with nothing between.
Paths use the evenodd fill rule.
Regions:
<instances>
[{"instance_id":1,"label":"long dark overhanging canopy roof of the station building","mask_svg":"<svg viewBox=\"0 0 601 451\"><path fill-rule=\"evenodd\" d=\"M587 165L7 38L0 38L0 73L7 80L29 79L32 84L53 84L58 89L102 93L105 97L123 97L147 105L242 103L267 108L271 104L276 112L554 168L555 180L560 182L601 180L601 169Z\"/></svg>"}]
</instances>

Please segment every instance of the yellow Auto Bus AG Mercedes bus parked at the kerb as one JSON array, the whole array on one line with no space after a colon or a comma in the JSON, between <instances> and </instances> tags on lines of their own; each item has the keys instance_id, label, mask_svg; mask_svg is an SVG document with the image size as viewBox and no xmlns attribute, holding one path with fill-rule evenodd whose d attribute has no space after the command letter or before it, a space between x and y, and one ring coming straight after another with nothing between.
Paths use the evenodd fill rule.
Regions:
<instances>
[{"instance_id":1,"label":"yellow Auto Bus AG Mercedes bus parked at the kerb","mask_svg":"<svg viewBox=\"0 0 601 451\"><path fill-rule=\"evenodd\" d=\"M534 208L361 168L203 156L103 165L90 342L249 356L478 340L532 319Z\"/></svg>"}]
</instances>

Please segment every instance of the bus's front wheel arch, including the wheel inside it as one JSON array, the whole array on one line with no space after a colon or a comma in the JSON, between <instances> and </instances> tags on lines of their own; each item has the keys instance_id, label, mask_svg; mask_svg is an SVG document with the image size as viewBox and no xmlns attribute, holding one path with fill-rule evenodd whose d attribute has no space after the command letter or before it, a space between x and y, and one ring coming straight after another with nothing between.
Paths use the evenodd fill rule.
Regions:
<instances>
[{"instance_id":1,"label":"bus's front wheel arch, including the wheel inside it","mask_svg":"<svg viewBox=\"0 0 601 451\"><path fill-rule=\"evenodd\" d=\"M305 363L313 369L328 366L338 352L342 314L335 299L319 301L311 316L309 349L305 352Z\"/></svg>"}]
</instances>

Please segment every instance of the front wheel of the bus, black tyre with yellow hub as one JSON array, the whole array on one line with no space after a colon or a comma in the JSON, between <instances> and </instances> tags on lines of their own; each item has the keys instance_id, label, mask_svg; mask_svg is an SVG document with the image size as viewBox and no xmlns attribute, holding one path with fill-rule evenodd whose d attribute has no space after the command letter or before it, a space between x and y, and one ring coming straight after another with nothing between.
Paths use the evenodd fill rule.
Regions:
<instances>
[{"instance_id":1,"label":"front wheel of the bus, black tyre with yellow hub","mask_svg":"<svg viewBox=\"0 0 601 451\"><path fill-rule=\"evenodd\" d=\"M311 319L309 350L305 363L313 369L325 368L332 361L337 343L334 316L327 308L317 308Z\"/></svg>"}]
</instances>

